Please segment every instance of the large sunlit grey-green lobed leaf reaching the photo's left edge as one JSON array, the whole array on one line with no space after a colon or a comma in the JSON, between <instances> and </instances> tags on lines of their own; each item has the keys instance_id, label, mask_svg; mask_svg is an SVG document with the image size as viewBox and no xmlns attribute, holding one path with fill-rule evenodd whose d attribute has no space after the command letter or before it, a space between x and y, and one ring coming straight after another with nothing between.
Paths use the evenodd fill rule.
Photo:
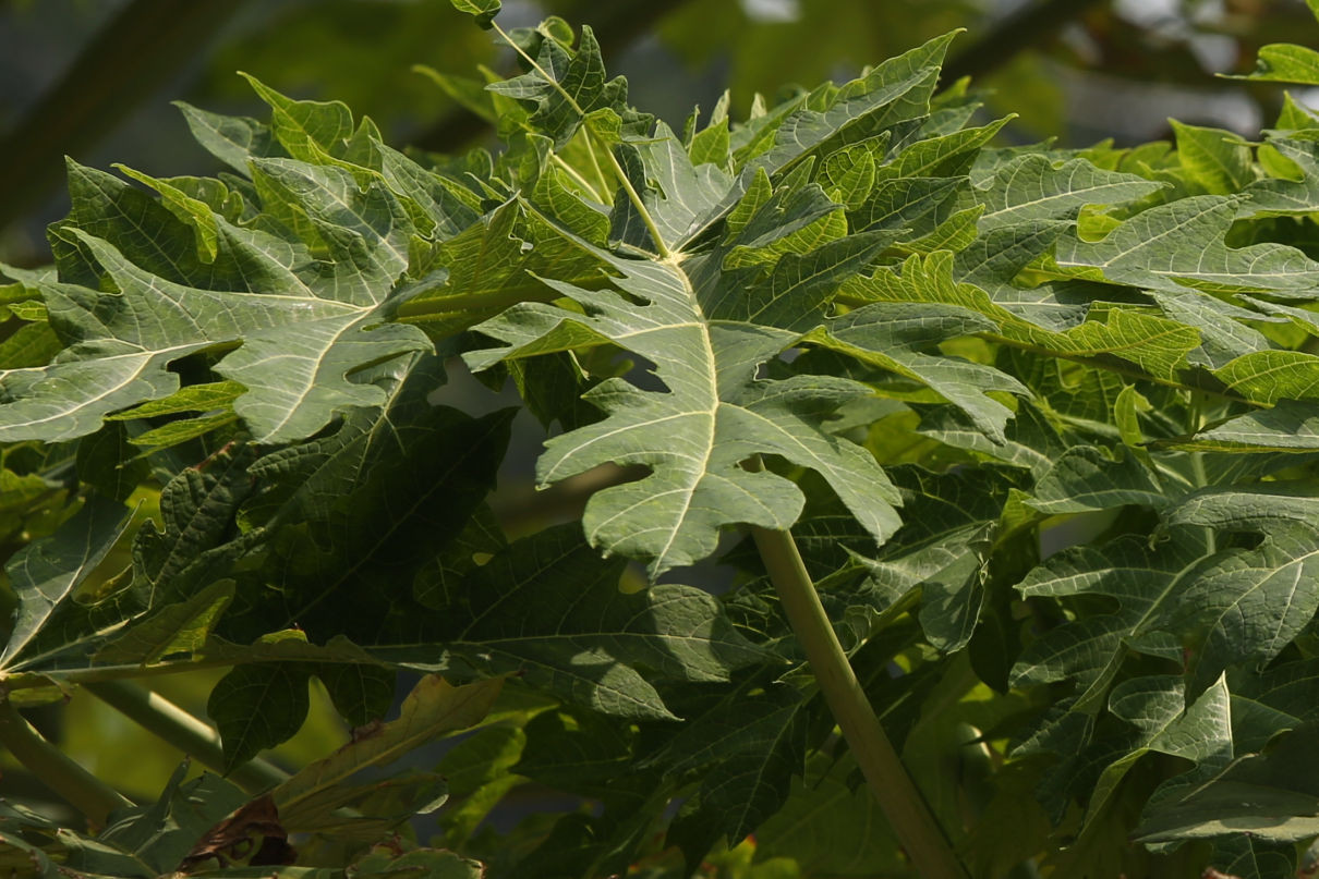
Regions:
<instances>
[{"instance_id":1,"label":"large sunlit grey-green lobed leaf reaching the photo's left edge","mask_svg":"<svg viewBox=\"0 0 1319 879\"><path fill-rule=\"evenodd\" d=\"M265 159L259 169L264 186L298 206L313 225L319 223L322 233L342 229L327 239L338 241L330 245L338 256L332 269L323 265L323 283L332 285L332 294L317 295L309 281L265 253L252 254L265 270L257 281L280 277L278 293L191 287L153 275L109 242L71 229L120 295L107 298L62 282L40 285L57 326L82 340L57 364L0 373L9 397L0 409L0 436L91 432L116 409L171 394L178 387L178 377L168 370L174 360L233 341L244 344L218 369L249 389L235 409L259 440L306 436L335 409L381 402L379 389L352 382L347 373L429 347L415 328L375 327L393 307L388 290L406 266L406 217L384 187L361 192L339 169L291 159ZM227 235L230 227L216 223Z\"/></svg>"}]
</instances>

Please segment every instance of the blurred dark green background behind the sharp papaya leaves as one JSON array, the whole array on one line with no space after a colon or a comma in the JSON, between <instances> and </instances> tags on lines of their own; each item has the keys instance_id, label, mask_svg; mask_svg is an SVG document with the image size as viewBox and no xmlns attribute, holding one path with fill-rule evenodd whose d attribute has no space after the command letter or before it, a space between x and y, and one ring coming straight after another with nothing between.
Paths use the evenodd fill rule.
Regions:
<instances>
[{"instance_id":1,"label":"blurred dark green background behind the sharp papaya leaves","mask_svg":"<svg viewBox=\"0 0 1319 879\"><path fill-rule=\"evenodd\" d=\"M745 113L757 92L773 101L785 83L847 79L964 28L946 80L972 76L987 116L1017 113L1006 142L1067 146L1158 140L1169 116L1253 137L1275 117L1281 90L1217 74L1249 71L1269 42L1319 42L1303 0L505 0L501 21L547 14L591 25L633 103L674 125L725 88ZM152 175L218 170L169 101L265 116L236 70L297 98L343 100L400 146L489 141L488 127L414 65L479 76L479 66L506 72L513 59L448 0L0 0L0 261L49 258L45 225L67 211L63 156ZM509 455L518 477L501 476L514 494L530 490L539 440L534 426L518 436ZM8 548L21 544L8 538ZM158 689L204 714L212 684L198 673ZM348 735L323 695L313 698L307 726L273 755L285 766ZM179 759L82 692L33 720L135 796L154 796ZM58 812L7 755L0 775L0 793Z\"/></svg>"}]
</instances>

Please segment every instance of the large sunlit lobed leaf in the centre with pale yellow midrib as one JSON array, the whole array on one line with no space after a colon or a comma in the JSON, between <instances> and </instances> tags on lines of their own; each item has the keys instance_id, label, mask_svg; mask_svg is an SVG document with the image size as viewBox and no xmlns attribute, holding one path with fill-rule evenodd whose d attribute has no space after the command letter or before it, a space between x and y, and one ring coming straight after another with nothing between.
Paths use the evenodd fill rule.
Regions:
<instances>
[{"instance_id":1,"label":"large sunlit lobed leaf in the centre with pale yellow midrib","mask_svg":"<svg viewBox=\"0 0 1319 879\"><path fill-rule=\"evenodd\" d=\"M599 252L616 273L616 290L546 279L588 308L587 315L516 306L479 327L505 347L466 358L484 369L608 340L656 364L669 393L604 381L586 399L609 416L551 439L537 465L546 484L609 461L652 468L638 482L592 496L583 519L592 544L646 559L652 576L707 556L724 525L791 525L801 493L773 473L743 469L757 452L820 472L882 540L897 525L888 480L868 453L818 427L839 403L868 393L864 386L827 377L754 378L757 365L820 319L834 286L867 265L880 244L857 236L803 256L786 254L764 282L760 302L748 299L741 286L745 273L758 269L720 273L721 250L681 266Z\"/></svg>"}]
</instances>

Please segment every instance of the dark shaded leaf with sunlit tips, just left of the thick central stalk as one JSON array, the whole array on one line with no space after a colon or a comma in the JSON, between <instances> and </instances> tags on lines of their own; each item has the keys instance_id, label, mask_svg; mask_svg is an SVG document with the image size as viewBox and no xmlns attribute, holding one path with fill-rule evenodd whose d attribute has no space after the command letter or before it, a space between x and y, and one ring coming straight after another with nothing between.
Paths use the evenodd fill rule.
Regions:
<instances>
[{"instance_id":1,"label":"dark shaded leaf with sunlit tips, just left of the thick central stalk","mask_svg":"<svg viewBox=\"0 0 1319 879\"><path fill-rule=\"evenodd\" d=\"M468 575L430 638L451 664L516 672L567 701L650 720L673 713L636 667L723 681L765 659L699 589L619 592L623 564L601 561L572 526L546 528Z\"/></svg>"}]
</instances>

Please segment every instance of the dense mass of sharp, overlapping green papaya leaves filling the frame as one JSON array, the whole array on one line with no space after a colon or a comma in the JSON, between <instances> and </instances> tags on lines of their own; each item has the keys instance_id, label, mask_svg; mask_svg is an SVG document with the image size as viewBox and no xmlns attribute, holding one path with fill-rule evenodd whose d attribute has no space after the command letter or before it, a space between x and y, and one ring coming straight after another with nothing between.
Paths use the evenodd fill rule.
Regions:
<instances>
[{"instance_id":1,"label":"dense mass of sharp, overlapping green papaya leaves filling the frame","mask_svg":"<svg viewBox=\"0 0 1319 879\"><path fill-rule=\"evenodd\" d=\"M269 123L183 108L215 178L71 166L55 265L0 289L9 702L228 668L228 772L319 679L368 731L273 796L348 828L353 875L470 868L363 854L438 775L347 779L485 712L434 768L443 845L493 875L687 875L752 832L801 875L898 875L754 552L718 597L670 573L791 528L973 875L1293 875L1319 830L1279 768L1319 720L1319 117L997 148L1005 120L939 88L944 37L675 133L588 29L505 37L521 75L437 74L493 154L404 154L253 80ZM542 484L637 478L508 540L513 412L456 407L454 356L551 428ZM629 559L658 585L620 589ZM398 672L467 683L423 677L380 734ZM3 857L171 868L247 801L204 779L98 839L15 809ZM528 784L586 805L476 829ZM148 839L194 795L215 814Z\"/></svg>"}]
</instances>

